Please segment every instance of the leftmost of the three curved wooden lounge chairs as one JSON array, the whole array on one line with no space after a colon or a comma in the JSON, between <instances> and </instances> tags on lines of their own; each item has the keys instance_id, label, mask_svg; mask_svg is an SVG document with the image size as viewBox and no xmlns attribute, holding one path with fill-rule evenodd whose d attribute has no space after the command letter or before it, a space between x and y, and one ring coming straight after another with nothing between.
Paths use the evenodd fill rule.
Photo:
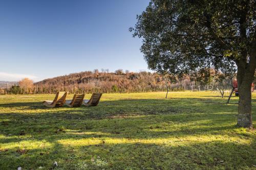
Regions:
<instances>
[{"instance_id":1,"label":"leftmost of the three curved wooden lounge chairs","mask_svg":"<svg viewBox=\"0 0 256 170\"><path fill-rule=\"evenodd\" d=\"M67 96L66 91L59 91L57 92L53 101L44 101L42 104L50 108L60 107L60 106L63 106L63 104L65 103L66 96Z\"/></svg>"}]
</instances>

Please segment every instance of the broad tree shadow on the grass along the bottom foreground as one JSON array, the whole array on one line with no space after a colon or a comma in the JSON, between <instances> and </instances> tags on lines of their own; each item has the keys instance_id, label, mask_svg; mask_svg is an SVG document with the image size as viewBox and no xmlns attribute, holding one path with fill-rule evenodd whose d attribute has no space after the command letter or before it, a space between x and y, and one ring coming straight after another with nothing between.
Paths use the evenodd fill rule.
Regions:
<instances>
[{"instance_id":1,"label":"broad tree shadow on the grass along the bottom foreground","mask_svg":"<svg viewBox=\"0 0 256 170\"><path fill-rule=\"evenodd\" d=\"M255 140L253 141L255 143ZM2 169L53 168L53 161L61 169L253 169L253 146L235 142L177 142L156 143L97 143L61 144L28 149L18 154L16 148L0 153ZM242 151L242 152L241 152Z\"/></svg>"}]
</instances>

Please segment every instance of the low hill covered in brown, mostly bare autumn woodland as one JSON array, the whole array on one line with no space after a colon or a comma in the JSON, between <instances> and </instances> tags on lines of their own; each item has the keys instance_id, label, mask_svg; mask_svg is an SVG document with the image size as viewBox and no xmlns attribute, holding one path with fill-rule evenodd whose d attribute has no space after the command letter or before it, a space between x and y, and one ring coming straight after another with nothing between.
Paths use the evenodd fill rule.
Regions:
<instances>
[{"instance_id":1,"label":"low hill covered in brown, mostly bare autumn woodland","mask_svg":"<svg viewBox=\"0 0 256 170\"><path fill-rule=\"evenodd\" d=\"M70 93L91 92L145 92L165 91L164 77L157 73L146 71L123 72L121 69L115 72L83 71L66 76L45 79L35 83L38 93L55 93L56 91L69 91ZM172 90L181 90L184 85L190 85L189 78L184 78L177 84L171 85Z\"/></svg>"}]
</instances>

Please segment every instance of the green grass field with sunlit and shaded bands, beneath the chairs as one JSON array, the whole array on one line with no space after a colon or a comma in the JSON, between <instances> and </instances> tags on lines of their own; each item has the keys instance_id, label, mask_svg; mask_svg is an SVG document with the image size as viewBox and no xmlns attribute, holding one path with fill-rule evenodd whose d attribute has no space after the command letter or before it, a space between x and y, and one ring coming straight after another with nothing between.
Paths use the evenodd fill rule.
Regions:
<instances>
[{"instance_id":1,"label":"green grass field with sunlit and shaded bands, beneath the chairs","mask_svg":"<svg viewBox=\"0 0 256 170\"><path fill-rule=\"evenodd\" d=\"M236 127L238 98L164 97L103 94L97 107L48 109L54 95L0 95L0 169L256 169L256 130Z\"/></svg>"}]
</instances>

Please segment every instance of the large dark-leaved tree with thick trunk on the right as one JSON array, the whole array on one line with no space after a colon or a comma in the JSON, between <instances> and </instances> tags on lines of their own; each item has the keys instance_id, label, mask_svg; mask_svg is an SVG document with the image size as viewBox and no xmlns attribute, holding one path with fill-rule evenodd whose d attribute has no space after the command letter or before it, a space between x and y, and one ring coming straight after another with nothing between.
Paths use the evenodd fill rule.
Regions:
<instances>
[{"instance_id":1,"label":"large dark-leaved tree with thick trunk on the right","mask_svg":"<svg viewBox=\"0 0 256 170\"><path fill-rule=\"evenodd\" d=\"M151 0L130 28L143 39L141 52L150 69L181 76L236 68L240 127L252 127L255 30L255 0Z\"/></svg>"}]
</instances>

